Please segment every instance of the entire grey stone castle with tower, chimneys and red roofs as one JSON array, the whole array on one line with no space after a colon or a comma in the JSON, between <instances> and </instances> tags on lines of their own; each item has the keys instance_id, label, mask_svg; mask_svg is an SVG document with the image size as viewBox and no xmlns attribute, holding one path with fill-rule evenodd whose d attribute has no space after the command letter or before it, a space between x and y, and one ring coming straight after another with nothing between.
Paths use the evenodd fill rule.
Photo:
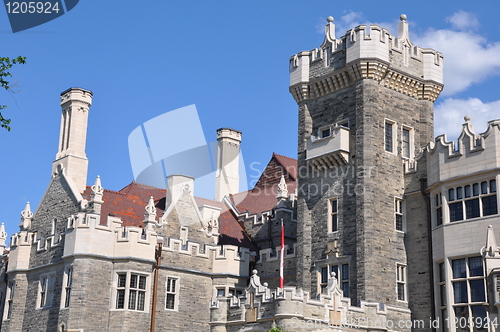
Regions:
<instances>
[{"instance_id":1,"label":"entire grey stone castle with tower, chimneys and red roofs","mask_svg":"<svg viewBox=\"0 0 500 332\"><path fill-rule=\"evenodd\" d=\"M238 193L242 133L221 128L215 200L182 174L87 186L92 92L64 91L49 187L8 250L0 229L0 330L496 331L500 120L434 140L442 72L404 15L339 38L329 17L290 58L298 159Z\"/></svg>"}]
</instances>

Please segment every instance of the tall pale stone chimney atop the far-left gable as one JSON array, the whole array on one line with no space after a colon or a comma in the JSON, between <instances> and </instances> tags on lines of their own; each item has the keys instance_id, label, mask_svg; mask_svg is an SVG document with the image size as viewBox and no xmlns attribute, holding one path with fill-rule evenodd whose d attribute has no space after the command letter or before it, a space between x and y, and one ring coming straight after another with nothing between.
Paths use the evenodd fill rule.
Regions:
<instances>
[{"instance_id":1,"label":"tall pale stone chimney atop the far-left gable","mask_svg":"<svg viewBox=\"0 0 500 332\"><path fill-rule=\"evenodd\" d=\"M83 193L87 182L89 161L85 154L85 144L91 105L92 92L89 90L69 88L61 93L61 132L52 173L62 166L64 173L73 180L79 193Z\"/></svg>"}]
</instances>

